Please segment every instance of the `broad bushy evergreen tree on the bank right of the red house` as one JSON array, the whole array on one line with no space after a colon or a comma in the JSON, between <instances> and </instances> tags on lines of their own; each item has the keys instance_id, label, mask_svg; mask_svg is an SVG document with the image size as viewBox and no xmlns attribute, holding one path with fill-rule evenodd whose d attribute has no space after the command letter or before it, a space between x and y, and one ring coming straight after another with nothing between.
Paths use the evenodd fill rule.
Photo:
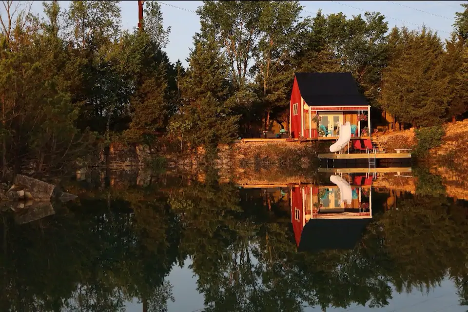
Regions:
<instances>
[{"instance_id":1,"label":"broad bushy evergreen tree on the bank right of the red house","mask_svg":"<svg viewBox=\"0 0 468 312\"><path fill-rule=\"evenodd\" d=\"M437 34L403 29L384 70L380 104L413 126L440 123L448 107L444 49Z\"/></svg>"}]
</instances>

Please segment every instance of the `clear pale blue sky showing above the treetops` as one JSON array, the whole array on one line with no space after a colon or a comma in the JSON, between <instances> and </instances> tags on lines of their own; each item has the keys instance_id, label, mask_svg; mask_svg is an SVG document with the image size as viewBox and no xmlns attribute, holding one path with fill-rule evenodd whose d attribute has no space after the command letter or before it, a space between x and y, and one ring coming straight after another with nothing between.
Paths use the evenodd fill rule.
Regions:
<instances>
[{"instance_id":1,"label":"clear pale blue sky showing above the treetops","mask_svg":"<svg viewBox=\"0 0 468 312\"><path fill-rule=\"evenodd\" d=\"M42 12L41 1L34 1L33 10ZM62 7L69 1L60 1ZM185 59L192 47L192 37L200 29L195 10L202 1L157 1L161 5L164 25L171 26L170 42L166 52L171 61L180 59L184 66ZM462 11L465 1L300 1L304 7L304 16L314 16L318 9L327 15L343 12L346 16L376 11L385 15L389 28L407 26L409 29L421 28L423 24L437 30L442 39L450 36L453 30L455 12ZM132 29L138 22L137 0L121 1L122 27ZM0 12L2 10L0 9Z\"/></svg>"}]
</instances>

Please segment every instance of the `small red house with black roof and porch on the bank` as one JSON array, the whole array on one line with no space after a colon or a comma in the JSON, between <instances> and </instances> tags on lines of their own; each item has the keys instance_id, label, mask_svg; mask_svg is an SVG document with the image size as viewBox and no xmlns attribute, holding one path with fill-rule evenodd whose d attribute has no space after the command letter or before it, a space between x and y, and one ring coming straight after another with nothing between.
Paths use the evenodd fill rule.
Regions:
<instances>
[{"instance_id":1,"label":"small red house with black roof and porch on the bank","mask_svg":"<svg viewBox=\"0 0 468 312\"><path fill-rule=\"evenodd\" d=\"M318 123L313 120L316 114ZM339 124L347 121L353 137L370 137L370 106L351 73L295 73L290 100L292 138L338 137ZM367 135L361 132L364 127Z\"/></svg>"}]
</instances>

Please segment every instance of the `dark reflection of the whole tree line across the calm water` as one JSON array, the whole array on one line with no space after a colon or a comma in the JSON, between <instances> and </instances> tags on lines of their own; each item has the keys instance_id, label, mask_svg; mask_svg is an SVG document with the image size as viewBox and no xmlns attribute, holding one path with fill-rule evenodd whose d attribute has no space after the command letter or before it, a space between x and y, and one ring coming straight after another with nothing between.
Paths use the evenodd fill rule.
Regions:
<instances>
[{"instance_id":1,"label":"dark reflection of the whole tree line across the calm water","mask_svg":"<svg viewBox=\"0 0 468 312\"><path fill-rule=\"evenodd\" d=\"M132 298L166 311L174 298L165 277L187 256L207 312L381 307L390 285L425 290L445 276L468 303L460 202L400 198L353 250L305 254L287 196L210 181L167 194L102 194L22 226L3 215L1 311L124 311Z\"/></svg>"}]
</instances>

